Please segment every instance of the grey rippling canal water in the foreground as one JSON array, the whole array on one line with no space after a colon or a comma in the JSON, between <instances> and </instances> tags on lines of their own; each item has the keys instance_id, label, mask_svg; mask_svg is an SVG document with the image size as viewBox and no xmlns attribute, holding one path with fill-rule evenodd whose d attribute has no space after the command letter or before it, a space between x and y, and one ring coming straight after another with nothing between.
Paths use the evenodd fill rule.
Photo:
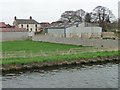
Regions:
<instances>
[{"instance_id":1,"label":"grey rippling canal water in the foreground","mask_svg":"<svg viewBox=\"0 0 120 90\"><path fill-rule=\"evenodd\" d=\"M117 88L118 64L77 65L9 73L3 88Z\"/></svg>"}]
</instances>

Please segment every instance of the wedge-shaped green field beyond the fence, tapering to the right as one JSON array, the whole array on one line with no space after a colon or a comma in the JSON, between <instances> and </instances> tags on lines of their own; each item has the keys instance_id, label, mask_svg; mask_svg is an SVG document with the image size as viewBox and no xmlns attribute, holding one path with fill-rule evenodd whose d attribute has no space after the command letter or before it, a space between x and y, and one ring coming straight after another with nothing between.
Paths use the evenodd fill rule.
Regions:
<instances>
[{"instance_id":1,"label":"wedge-shaped green field beyond the fence, tapering to the right","mask_svg":"<svg viewBox=\"0 0 120 90\"><path fill-rule=\"evenodd\" d=\"M2 42L2 51L32 51L33 53L40 52L41 50L55 51L58 50L69 50L70 48L80 48L81 46L76 45L64 45L54 44L45 42L33 42L33 41L7 41ZM83 48L83 47L82 47Z\"/></svg>"}]
</instances>

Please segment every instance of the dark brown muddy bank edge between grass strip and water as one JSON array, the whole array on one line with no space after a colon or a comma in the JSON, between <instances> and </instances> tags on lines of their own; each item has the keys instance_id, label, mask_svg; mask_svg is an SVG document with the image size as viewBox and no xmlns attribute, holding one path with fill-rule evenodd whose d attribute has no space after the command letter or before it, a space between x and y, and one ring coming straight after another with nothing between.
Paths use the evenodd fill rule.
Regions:
<instances>
[{"instance_id":1,"label":"dark brown muddy bank edge between grass strip and water","mask_svg":"<svg viewBox=\"0 0 120 90\"><path fill-rule=\"evenodd\" d=\"M82 58L79 60L63 60L54 62L40 62L40 63L28 63L28 64L16 64L16 65L2 65L2 72L9 73L22 70L30 69L42 69L47 67L57 67L65 65L78 65L78 64L96 64L96 63L108 63L117 62L119 63L119 56L107 56L107 57L97 57L97 58Z\"/></svg>"}]
</instances>

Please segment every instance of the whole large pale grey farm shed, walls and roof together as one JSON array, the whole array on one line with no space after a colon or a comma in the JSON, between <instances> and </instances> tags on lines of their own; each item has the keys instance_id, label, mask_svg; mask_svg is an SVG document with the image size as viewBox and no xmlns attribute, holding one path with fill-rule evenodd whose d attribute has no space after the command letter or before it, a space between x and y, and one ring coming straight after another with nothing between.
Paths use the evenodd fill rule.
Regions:
<instances>
[{"instance_id":1,"label":"whole large pale grey farm shed, walls and roof together","mask_svg":"<svg viewBox=\"0 0 120 90\"><path fill-rule=\"evenodd\" d=\"M102 28L90 23L74 23L62 27L50 27L47 29L49 35L58 37L100 38Z\"/></svg>"}]
</instances>

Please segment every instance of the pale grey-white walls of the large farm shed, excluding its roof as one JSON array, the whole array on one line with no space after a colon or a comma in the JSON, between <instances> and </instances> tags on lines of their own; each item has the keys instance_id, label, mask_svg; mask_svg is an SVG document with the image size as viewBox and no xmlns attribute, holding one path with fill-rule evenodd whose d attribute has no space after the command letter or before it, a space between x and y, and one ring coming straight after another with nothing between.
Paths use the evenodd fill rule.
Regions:
<instances>
[{"instance_id":1,"label":"pale grey-white walls of the large farm shed, excluding its roof","mask_svg":"<svg viewBox=\"0 0 120 90\"><path fill-rule=\"evenodd\" d=\"M66 36L66 37L87 37L88 38L94 33L96 35L101 35L102 28L101 27L85 27L85 23L81 23L78 26L73 25L71 27L68 27L66 29L59 29L59 28L51 28L48 29L48 34L54 35L54 36Z\"/></svg>"}]
</instances>

